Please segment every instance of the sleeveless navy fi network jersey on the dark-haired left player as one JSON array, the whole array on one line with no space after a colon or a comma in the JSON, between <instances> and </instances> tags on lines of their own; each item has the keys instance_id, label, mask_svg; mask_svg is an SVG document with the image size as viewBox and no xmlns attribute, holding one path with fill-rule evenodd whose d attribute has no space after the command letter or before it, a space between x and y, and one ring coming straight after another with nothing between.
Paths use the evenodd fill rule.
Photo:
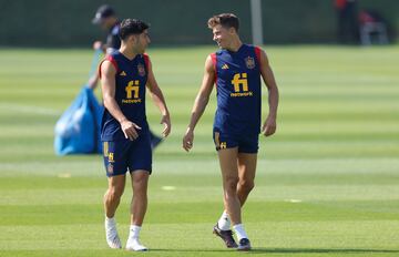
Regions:
<instances>
[{"instance_id":1,"label":"sleeveless navy fi network jersey on the dark-haired left player","mask_svg":"<svg viewBox=\"0 0 399 257\"><path fill-rule=\"evenodd\" d=\"M149 73L149 56L146 54L137 54L133 60L129 60L120 51L115 51L108 55L106 60L111 61L116 69L114 97L119 107L129 121L142 127L142 130L137 131L139 135L147 132L145 85ZM124 138L121 124L104 109L101 140L115 141Z\"/></svg>"}]
</instances>

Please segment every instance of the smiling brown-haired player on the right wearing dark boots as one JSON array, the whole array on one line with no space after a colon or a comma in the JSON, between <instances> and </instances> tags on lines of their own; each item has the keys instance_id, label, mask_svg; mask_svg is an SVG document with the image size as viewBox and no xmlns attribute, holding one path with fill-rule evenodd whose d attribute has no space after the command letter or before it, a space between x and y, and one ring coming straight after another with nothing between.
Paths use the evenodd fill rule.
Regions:
<instances>
[{"instance_id":1,"label":"smiling brown-haired player on the right wearing dark boots","mask_svg":"<svg viewBox=\"0 0 399 257\"><path fill-rule=\"evenodd\" d=\"M238 35L238 18L232 13L214 16L208 20L213 39L221 50L209 54L205 61L203 82L183 137L183 148L188 152L193 147L195 125L216 83L217 110L213 138L222 169L225 210L214 226L214 234L228 248L249 250L242 207L254 187L260 133L260 76L268 89L269 112L262 126L265 136L276 131L278 89L266 53L258 47L244 44Z\"/></svg>"}]
</instances>

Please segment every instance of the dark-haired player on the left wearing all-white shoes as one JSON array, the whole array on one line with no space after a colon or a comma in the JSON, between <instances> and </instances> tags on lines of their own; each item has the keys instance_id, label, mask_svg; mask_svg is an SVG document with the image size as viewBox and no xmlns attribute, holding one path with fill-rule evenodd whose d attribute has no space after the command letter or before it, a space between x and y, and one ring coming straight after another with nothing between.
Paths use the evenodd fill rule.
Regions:
<instances>
[{"instance_id":1,"label":"dark-haired player on the left wearing all-white shoes","mask_svg":"<svg viewBox=\"0 0 399 257\"><path fill-rule=\"evenodd\" d=\"M170 113L158 88L149 55L149 25L136 19L123 20L120 27L121 48L100 64L104 100L101 138L109 188L104 195L105 234L111 248L121 248L115 212L125 187L125 173L131 174L133 198L126 249L146 250L139 240L147 207L147 182L152 172L150 131L145 114L149 90L162 113L163 136L171 132Z\"/></svg>"}]
</instances>

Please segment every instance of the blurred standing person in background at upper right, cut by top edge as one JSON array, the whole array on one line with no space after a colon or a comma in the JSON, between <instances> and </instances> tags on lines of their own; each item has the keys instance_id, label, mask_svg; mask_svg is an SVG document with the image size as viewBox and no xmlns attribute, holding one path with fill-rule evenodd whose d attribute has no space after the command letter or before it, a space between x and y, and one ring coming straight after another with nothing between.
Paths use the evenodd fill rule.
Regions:
<instances>
[{"instance_id":1,"label":"blurred standing person in background at upper right, cut by top edge","mask_svg":"<svg viewBox=\"0 0 399 257\"><path fill-rule=\"evenodd\" d=\"M359 42L356 0L335 0L338 14L338 42Z\"/></svg>"}]
</instances>

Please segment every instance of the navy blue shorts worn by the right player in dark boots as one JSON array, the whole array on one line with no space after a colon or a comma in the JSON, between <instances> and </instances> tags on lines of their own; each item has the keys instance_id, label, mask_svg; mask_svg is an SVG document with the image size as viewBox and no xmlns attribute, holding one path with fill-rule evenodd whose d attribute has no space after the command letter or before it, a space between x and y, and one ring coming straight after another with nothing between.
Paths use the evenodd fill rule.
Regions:
<instances>
[{"instance_id":1,"label":"navy blue shorts worn by the right player in dark boots","mask_svg":"<svg viewBox=\"0 0 399 257\"><path fill-rule=\"evenodd\" d=\"M238 153L255 154L259 148L258 133L233 135L214 128L213 138L216 151L238 147Z\"/></svg>"}]
</instances>

